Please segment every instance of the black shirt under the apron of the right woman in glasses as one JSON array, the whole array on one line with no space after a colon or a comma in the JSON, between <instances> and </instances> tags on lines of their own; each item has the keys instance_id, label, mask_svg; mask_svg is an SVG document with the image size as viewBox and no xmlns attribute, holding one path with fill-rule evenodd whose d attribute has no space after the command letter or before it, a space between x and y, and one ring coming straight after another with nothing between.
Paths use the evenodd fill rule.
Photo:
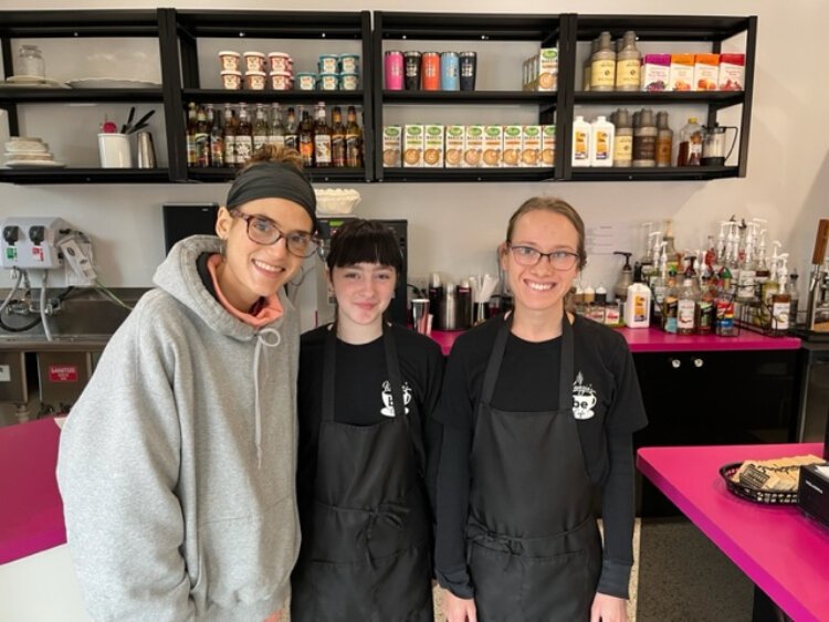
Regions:
<instances>
[{"instance_id":1,"label":"black shirt under the apron of the right woman in glasses","mask_svg":"<svg viewBox=\"0 0 829 622\"><path fill-rule=\"evenodd\" d=\"M473 594L464 541L469 455L486 365L503 323L504 316L496 316L458 338L436 411L447 426L438 476L436 570L443 587L464 598ZM599 590L622 595L632 563L632 433L647 424L647 418L625 338L581 317L575 319L573 333L574 414L587 471L602 492L606 531ZM556 410L560 341L529 342L510 334L492 405L507 411ZM627 574L620 570L625 567Z\"/></svg>"}]
</instances>

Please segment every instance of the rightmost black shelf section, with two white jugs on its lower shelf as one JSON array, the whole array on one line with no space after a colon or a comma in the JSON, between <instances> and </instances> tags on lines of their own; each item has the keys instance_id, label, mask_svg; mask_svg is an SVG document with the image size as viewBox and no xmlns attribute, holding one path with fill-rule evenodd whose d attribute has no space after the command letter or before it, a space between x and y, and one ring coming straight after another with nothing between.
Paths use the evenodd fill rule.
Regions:
<instances>
[{"instance_id":1,"label":"rightmost black shelf section, with two white jugs on its lower shelf","mask_svg":"<svg viewBox=\"0 0 829 622\"><path fill-rule=\"evenodd\" d=\"M633 30L640 42L706 42L711 52L720 53L723 42L745 33L745 89L709 92L622 92L575 91L567 92L563 122L571 127L575 105L641 105L665 106L690 104L704 106L705 125L717 120L717 113L732 106L742 106L739 124L739 148L737 165L726 167L669 167L652 168L575 168L569 158L564 162L563 179L573 181L637 181L637 180L707 180L726 177L745 177L748 164L748 137L754 96L754 63L757 43L756 17L702 17L702 15L573 15L574 43L591 41L601 32L610 32L613 40ZM574 45L575 49L575 45ZM565 60L562 57L564 64ZM570 85L575 85L576 57L568 60L574 72ZM559 77L560 81L560 77ZM565 120L566 119L566 120ZM676 133L674 133L674 139ZM559 135L558 145L567 154L571 150L571 137Z\"/></svg>"}]
</instances>

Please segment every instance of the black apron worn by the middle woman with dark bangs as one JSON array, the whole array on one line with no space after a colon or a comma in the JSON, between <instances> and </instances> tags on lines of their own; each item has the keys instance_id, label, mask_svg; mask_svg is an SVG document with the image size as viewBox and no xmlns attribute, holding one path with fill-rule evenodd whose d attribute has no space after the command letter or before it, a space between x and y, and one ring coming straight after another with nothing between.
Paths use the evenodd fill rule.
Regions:
<instances>
[{"instance_id":1,"label":"black apron worn by the middle woman with dark bangs","mask_svg":"<svg viewBox=\"0 0 829 622\"><path fill-rule=\"evenodd\" d=\"M431 622L431 517L391 328L384 323L395 417L374 425L334 421L336 340L332 328L314 498L302 513L291 620Z\"/></svg>"}]
</instances>

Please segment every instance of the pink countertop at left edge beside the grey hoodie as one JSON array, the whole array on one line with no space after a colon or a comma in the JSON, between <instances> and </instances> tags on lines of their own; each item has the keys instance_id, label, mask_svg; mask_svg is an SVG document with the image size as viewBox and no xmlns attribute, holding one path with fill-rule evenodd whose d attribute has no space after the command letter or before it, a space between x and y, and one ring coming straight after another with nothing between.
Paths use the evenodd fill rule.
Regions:
<instances>
[{"instance_id":1,"label":"pink countertop at left edge beside the grey hoodie","mask_svg":"<svg viewBox=\"0 0 829 622\"><path fill-rule=\"evenodd\" d=\"M0 428L0 563L66 541L54 419Z\"/></svg>"}]
</instances>

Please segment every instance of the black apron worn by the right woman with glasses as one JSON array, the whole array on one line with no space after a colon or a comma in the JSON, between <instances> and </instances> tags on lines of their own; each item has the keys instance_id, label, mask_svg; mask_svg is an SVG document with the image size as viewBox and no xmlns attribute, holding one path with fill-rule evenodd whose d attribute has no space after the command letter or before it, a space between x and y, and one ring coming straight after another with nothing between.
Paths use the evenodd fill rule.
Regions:
<instances>
[{"instance_id":1,"label":"black apron worn by the right woman with glasses","mask_svg":"<svg viewBox=\"0 0 829 622\"><path fill-rule=\"evenodd\" d=\"M573 415L574 338L566 315L562 325L558 410L512 412L491 405L512 316L499 329L486 366L470 458L466 527L479 622L590 616L601 542Z\"/></svg>"}]
</instances>

